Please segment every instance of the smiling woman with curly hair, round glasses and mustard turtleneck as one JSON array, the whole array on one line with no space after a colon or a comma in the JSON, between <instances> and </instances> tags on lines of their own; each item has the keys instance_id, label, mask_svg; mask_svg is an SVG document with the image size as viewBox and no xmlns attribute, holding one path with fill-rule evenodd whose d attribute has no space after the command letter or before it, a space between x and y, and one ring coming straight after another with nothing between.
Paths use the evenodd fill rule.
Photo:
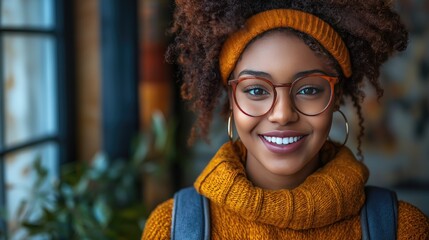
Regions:
<instances>
[{"instance_id":1,"label":"smiling woman with curly hair, round glasses and mustard turtleneck","mask_svg":"<svg viewBox=\"0 0 429 240\"><path fill-rule=\"evenodd\" d=\"M399 16L379 0L176 3L167 57L177 60L182 97L198 114L192 138L207 137L227 95L230 141L194 183L210 205L210 237L361 239L368 168L327 139L334 112L344 116L340 105L349 98L361 120L360 142L362 83L381 97L379 68L407 45ZM183 195L176 196L152 212L143 239L175 237L172 219L183 210L176 205ZM398 239L429 237L420 210L396 199L393 205Z\"/></svg>"}]
</instances>

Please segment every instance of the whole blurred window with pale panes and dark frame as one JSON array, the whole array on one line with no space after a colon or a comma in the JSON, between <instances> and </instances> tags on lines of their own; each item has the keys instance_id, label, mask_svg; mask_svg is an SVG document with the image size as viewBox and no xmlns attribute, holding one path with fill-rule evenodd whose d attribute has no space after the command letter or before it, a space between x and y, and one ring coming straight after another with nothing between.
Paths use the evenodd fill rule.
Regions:
<instances>
[{"instance_id":1,"label":"whole blurred window with pale panes and dark frame","mask_svg":"<svg viewBox=\"0 0 429 240\"><path fill-rule=\"evenodd\" d=\"M34 161L41 159L55 179L61 163L73 157L72 8L65 2L0 0L2 232L16 231L20 203L31 194Z\"/></svg>"}]
</instances>

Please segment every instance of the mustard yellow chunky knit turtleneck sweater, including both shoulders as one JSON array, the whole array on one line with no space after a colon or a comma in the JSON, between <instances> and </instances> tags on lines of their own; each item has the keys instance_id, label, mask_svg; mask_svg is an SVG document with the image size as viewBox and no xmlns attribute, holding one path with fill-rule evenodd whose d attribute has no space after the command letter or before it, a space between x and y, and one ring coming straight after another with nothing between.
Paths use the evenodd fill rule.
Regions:
<instances>
[{"instance_id":1,"label":"mustard yellow chunky knit turtleneck sweater, including both shoulders","mask_svg":"<svg viewBox=\"0 0 429 240\"><path fill-rule=\"evenodd\" d=\"M246 150L226 143L194 187L210 200L211 239L361 239L359 211L367 168L347 148L322 148L323 167L292 190L255 187ZM150 215L142 239L170 239L173 199ZM429 239L429 219L399 202L398 239Z\"/></svg>"}]
</instances>

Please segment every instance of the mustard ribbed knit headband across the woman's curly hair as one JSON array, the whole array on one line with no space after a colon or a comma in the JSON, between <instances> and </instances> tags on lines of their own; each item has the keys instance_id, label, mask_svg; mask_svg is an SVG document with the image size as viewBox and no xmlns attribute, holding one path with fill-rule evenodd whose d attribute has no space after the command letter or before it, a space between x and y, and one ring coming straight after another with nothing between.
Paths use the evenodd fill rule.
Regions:
<instances>
[{"instance_id":1,"label":"mustard ribbed knit headband across the woman's curly hair","mask_svg":"<svg viewBox=\"0 0 429 240\"><path fill-rule=\"evenodd\" d=\"M349 51L340 35L322 19L309 13L292 9L274 9L258 13L246 25L232 34L223 44L219 56L222 81L227 83L246 45L268 30L290 27L316 39L340 64L346 77L352 74Z\"/></svg>"}]
</instances>

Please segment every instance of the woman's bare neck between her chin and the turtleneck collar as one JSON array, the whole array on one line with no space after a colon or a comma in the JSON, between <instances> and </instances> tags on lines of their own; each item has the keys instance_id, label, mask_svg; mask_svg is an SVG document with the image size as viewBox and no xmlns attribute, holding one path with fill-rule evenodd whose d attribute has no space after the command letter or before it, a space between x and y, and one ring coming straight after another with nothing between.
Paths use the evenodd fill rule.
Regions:
<instances>
[{"instance_id":1,"label":"woman's bare neck between her chin and the turtleneck collar","mask_svg":"<svg viewBox=\"0 0 429 240\"><path fill-rule=\"evenodd\" d=\"M305 167L292 174L275 174L268 171L259 161L247 156L246 174L254 186L262 189L279 190L294 189L320 168L319 156L316 155Z\"/></svg>"}]
</instances>

